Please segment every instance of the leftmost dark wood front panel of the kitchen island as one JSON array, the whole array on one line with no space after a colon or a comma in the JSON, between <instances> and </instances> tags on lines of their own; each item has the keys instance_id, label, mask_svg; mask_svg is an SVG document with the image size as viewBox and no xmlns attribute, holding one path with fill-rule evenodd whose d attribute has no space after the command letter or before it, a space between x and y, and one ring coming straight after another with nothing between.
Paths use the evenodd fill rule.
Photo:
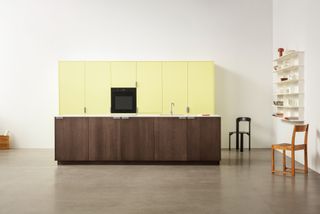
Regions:
<instances>
[{"instance_id":1,"label":"leftmost dark wood front panel of the kitchen island","mask_svg":"<svg viewBox=\"0 0 320 214\"><path fill-rule=\"evenodd\" d=\"M85 161L88 158L88 118L55 119L55 159Z\"/></svg>"}]
</instances>

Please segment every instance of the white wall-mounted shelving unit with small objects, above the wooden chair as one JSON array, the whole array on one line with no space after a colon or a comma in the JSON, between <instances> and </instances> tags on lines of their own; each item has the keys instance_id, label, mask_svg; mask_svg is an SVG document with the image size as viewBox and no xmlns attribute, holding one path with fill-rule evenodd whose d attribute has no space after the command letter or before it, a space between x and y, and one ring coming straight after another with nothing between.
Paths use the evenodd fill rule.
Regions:
<instances>
[{"instance_id":1,"label":"white wall-mounted shelving unit with small objects, above the wooden chair","mask_svg":"<svg viewBox=\"0 0 320 214\"><path fill-rule=\"evenodd\" d=\"M304 53L290 51L273 61L274 116L283 121L304 121Z\"/></svg>"}]
</instances>

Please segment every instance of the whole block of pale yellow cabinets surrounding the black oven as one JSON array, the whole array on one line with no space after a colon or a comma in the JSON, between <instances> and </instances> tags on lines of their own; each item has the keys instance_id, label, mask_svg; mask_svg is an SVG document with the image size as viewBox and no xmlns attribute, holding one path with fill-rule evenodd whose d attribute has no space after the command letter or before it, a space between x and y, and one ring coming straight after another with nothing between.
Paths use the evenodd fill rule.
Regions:
<instances>
[{"instance_id":1,"label":"whole block of pale yellow cabinets surrounding the black oven","mask_svg":"<svg viewBox=\"0 0 320 214\"><path fill-rule=\"evenodd\" d=\"M111 87L137 88L138 114L212 115L215 111L210 61L62 61L60 115L109 114ZM279 95L279 100L285 96L289 95Z\"/></svg>"}]
</instances>

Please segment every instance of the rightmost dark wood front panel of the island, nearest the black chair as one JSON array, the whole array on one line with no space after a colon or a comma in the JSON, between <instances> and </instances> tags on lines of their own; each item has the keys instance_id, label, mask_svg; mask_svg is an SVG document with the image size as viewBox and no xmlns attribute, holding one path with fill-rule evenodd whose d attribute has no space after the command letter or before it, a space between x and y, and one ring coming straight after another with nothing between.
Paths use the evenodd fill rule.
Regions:
<instances>
[{"instance_id":1,"label":"rightmost dark wood front panel of the island, nearest the black chair","mask_svg":"<svg viewBox=\"0 0 320 214\"><path fill-rule=\"evenodd\" d=\"M220 161L220 118L188 119L188 160Z\"/></svg>"}]
</instances>

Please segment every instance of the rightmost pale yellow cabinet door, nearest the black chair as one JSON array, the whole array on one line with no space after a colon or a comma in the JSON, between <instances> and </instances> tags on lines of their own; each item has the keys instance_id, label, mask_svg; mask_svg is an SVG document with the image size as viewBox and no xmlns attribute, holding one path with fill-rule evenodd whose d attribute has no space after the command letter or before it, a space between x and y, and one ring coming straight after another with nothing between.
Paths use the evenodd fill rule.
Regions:
<instances>
[{"instance_id":1,"label":"rightmost pale yellow cabinet door, nearest the black chair","mask_svg":"<svg viewBox=\"0 0 320 214\"><path fill-rule=\"evenodd\" d=\"M188 63L189 114L214 114L214 82L213 62Z\"/></svg>"}]
</instances>

